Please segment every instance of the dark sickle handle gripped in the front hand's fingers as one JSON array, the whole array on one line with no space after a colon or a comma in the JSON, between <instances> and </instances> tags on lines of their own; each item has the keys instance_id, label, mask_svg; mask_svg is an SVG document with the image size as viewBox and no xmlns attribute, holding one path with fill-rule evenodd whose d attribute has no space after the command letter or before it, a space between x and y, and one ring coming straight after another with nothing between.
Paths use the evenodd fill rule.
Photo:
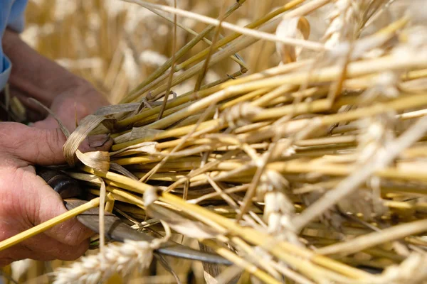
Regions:
<instances>
[{"instance_id":1,"label":"dark sickle handle gripped in the front hand's fingers","mask_svg":"<svg viewBox=\"0 0 427 284\"><path fill-rule=\"evenodd\" d=\"M63 199L70 197L82 197L83 190L77 180L70 178L60 170L36 167L37 175L40 175L46 183L59 193Z\"/></svg>"}]
</instances>

